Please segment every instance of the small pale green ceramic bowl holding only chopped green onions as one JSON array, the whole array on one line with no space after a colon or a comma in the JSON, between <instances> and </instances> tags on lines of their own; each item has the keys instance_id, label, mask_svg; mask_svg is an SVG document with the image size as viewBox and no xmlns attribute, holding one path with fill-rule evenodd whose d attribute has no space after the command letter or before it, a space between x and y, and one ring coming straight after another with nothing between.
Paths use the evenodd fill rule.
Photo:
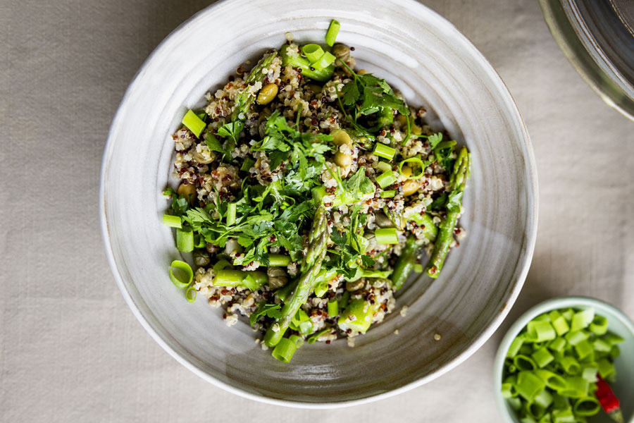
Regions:
<instances>
[{"instance_id":1,"label":"small pale green ceramic bowl holding only chopped green onions","mask_svg":"<svg viewBox=\"0 0 634 423\"><path fill-rule=\"evenodd\" d=\"M626 423L634 422L634 389L632 383L634 381L634 324L621 310L613 305L608 304L594 298L585 297L565 297L553 298L541 302L535 307L529 309L522 314L519 319L506 332L502 343L499 344L497 355L495 355L495 364L493 366L493 388L495 389L495 401L497 408L507 423L520 423L515 411L509 403L502 398L502 371L504 369L504 358L506 351L509 350L511 342L520 333L528 322L539 314L550 312L554 309L562 308L587 309L594 307L595 312L608 319L608 330L621 336L625 341L619 344L621 355L614 361L616 367L616 382L610 384L614 395L621 401L621 411ZM604 412L599 412L588 419L592 423L611 423L613 420Z\"/></svg>"}]
</instances>

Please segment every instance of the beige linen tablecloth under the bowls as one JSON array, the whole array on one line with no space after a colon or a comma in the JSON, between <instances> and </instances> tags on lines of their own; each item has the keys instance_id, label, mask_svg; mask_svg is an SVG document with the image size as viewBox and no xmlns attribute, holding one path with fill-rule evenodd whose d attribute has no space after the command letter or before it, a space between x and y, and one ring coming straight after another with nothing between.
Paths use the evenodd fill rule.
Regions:
<instances>
[{"instance_id":1,"label":"beige linen tablecloth under the bowls","mask_svg":"<svg viewBox=\"0 0 634 423\"><path fill-rule=\"evenodd\" d=\"M1 422L500 422L497 345L531 305L590 295L634 317L634 123L561 54L533 0L424 0L509 86L533 139L537 247L502 327L459 367L343 410L246 400L178 364L142 329L99 231L101 152L137 68L203 0L0 3ZM290 3L292 4L292 3Z\"/></svg>"}]
</instances>

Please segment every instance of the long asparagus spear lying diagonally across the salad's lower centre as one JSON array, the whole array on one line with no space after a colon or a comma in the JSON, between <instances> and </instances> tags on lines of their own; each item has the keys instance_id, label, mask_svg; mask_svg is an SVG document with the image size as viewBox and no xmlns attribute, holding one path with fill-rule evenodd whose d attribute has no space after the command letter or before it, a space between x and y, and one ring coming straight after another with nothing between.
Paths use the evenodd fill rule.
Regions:
<instances>
[{"instance_id":1,"label":"long asparagus spear lying diagonally across the salad's lower centre","mask_svg":"<svg viewBox=\"0 0 634 423\"><path fill-rule=\"evenodd\" d=\"M264 343L269 347L278 345L297 310L308 300L321 270L321 263L323 262L327 246L328 219L326 219L323 207L319 207L313 220L313 227L309 233L309 249L302 261L302 276L299 278L297 288L284 303L281 311L282 317L271 325L264 335Z\"/></svg>"}]
</instances>

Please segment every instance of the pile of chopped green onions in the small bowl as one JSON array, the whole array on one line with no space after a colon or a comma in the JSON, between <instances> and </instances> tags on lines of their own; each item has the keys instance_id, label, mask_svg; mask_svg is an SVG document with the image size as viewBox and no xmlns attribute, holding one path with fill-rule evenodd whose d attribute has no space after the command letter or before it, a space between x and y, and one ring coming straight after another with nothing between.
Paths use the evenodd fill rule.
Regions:
<instances>
[{"instance_id":1,"label":"pile of chopped green onions in the small bowl","mask_svg":"<svg viewBox=\"0 0 634 423\"><path fill-rule=\"evenodd\" d=\"M502 396L522 423L585 422L601 409L597 374L606 381L616 377L622 341L592 308L541 314L509 346Z\"/></svg>"}]
</instances>

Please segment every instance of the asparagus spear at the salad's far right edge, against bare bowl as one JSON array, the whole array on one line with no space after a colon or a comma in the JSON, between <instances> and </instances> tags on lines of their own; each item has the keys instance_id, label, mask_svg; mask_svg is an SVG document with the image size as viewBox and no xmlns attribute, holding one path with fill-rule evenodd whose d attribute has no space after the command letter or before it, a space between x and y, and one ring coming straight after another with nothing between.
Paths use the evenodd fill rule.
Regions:
<instances>
[{"instance_id":1,"label":"asparagus spear at the salad's far right edge, against bare bowl","mask_svg":"<svg viewBox=\"0 0 634 423\"><path fill-rule=\"evenodd\" d=\"M449 177L449 199L447 200L447 216L440 222L438 236L434 250L425 268L425 272L432 278L437 278L445 263L447 252L454 242L454 228L458 221L462 203L462 193L469 177L469 153L462 147L454 164L452 175Z\"/></svg>"}]
</instances>

